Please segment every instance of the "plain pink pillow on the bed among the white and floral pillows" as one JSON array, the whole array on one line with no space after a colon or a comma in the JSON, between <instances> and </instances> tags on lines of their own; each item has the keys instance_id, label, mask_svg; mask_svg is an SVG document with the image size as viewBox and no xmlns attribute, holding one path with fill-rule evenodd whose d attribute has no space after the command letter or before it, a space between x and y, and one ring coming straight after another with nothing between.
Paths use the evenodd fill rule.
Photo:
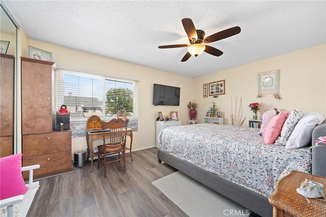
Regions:
<instances>
[{"instance_id":1,"label":"plain pink pillow on the bed among the white and floral pillows","mask_svg":"<svg viewBox=\"0 0 326 217\"><path fill-rule=\"evenodd\" d=\"M266 145L274 144L275 140L281 135L284 122L289 114L289 111L282 111L270 119L264 134L264 142Z\"/></svg>"}]
</instances>

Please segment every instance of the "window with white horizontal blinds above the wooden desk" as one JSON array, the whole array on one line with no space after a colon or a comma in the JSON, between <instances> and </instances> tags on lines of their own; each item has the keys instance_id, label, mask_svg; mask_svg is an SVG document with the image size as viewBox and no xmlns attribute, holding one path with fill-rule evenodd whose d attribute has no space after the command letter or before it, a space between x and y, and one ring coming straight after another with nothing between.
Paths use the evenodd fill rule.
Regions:
<instances>
[{"instance_id":1,"label":"window with white horizontal blinds above the wooden desk","mask_svg":"<svg viewBox=\"0 0 326 217\"><path fill-rule=\"evenodd\" d=\"M85 121L92 115L101 119L127 116L138 119L138 81L57 70L56 107L66 105L70 121Z\"/></svg>"}]
</instances>

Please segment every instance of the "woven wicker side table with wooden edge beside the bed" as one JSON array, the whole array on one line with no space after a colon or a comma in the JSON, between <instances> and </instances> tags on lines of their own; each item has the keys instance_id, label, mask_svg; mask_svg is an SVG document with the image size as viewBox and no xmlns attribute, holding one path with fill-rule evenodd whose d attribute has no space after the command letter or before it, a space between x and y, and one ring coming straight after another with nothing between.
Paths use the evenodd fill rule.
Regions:
<instances>
[{"instance_id":1,"label":"woven wicker side table with wooden edge beside the bed","mask_svg":"<svg viewBox=\"0 0 326 217\"><path fill-rule=\"evenodd\" d=\"M290 171L288 175L278 181L275 193L268 198L269 203L273 205L274 217L326 216L326 202L309 199L311 203L308 203L305 197L296 192L306 178L326 186L326 177Z\"/></svg>"}]
</instances>

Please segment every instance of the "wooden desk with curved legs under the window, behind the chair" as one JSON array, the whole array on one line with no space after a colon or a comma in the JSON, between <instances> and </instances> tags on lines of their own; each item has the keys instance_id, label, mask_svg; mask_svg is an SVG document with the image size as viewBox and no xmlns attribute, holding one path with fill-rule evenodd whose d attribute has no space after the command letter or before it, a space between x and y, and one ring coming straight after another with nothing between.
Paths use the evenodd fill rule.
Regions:
<instances>
[{"instance_id":1,"label":"wooden desk with curved legs under the window, behind the chair","mask_svg":"<svg viewBox=\"0 0 326 217\"><path fill-rule=\"evenodd\" d=\"M130 137L130 146L129 148L126 147L126 150L130 150L130 159L132 160L132 155L131 155L131 147L132 147L132 139L133 139L133 135L132 135L132 129L131 128L127 128L127 136ZM105 138L110 138L110 131L105 132ZM93 170L93 143L95 140L98 139L103 139L103 132L99 131L99 130L89 130L87 131L86 134L86 141L87 141L87 160L89 160L90 154L91 154L91 169L90 172L92 172ZM92 151L90 151L92 150Z\"/></svg>"}]
</instances>

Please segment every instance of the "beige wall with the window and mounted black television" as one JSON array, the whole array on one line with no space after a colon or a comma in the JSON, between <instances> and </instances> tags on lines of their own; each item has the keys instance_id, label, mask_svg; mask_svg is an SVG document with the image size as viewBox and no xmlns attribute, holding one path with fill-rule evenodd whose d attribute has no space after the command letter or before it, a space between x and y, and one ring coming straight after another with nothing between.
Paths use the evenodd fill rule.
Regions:
<instances>
[{"instance_id":1,"label":"beige wall with the window and mounted black television","mask_svg":"<svg viewBox=\"0 0 326 217\"><path fill-rule=\"evenodd\" d=\"M89 71L108 76L139 80L139 125L133 133L133 150L155 146L155 123L159 111L167 114L178 112L178 118L186 124L188 119L187 103L193 99L193 78L171 74L148 67L105 58L35 40L30 46L49 51L58 68ZM28 45L24 45L25 47ZM22 51L28 57L28 51ZM153 83L178 86L181 88L180 106L153 106ZM190 85L189 85L190 84ZM86 149L86 137L72 139L72 153Z\"/></svg>"}]
</instances>

